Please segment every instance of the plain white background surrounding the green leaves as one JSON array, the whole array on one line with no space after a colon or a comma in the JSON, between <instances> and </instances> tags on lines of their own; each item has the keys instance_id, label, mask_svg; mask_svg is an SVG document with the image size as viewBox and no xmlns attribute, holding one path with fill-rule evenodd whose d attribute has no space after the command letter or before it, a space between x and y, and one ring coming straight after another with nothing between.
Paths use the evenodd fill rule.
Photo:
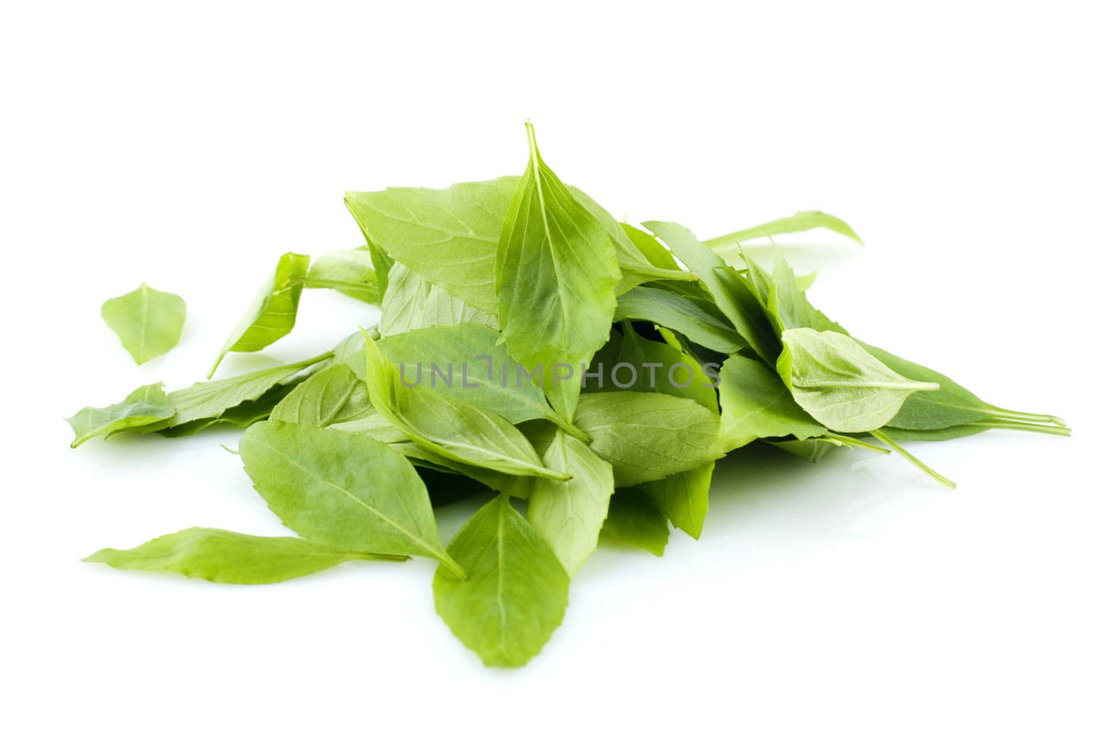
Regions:
<instances>
[{"instance_id":1,"label":"plain white background surrounding the green leaves","mask_svg":"<svg viewBox=\"0 0 1116 744\"><path fill-rule=\"evenodd\" d=\"M6 4L0 737L1113 741L1107 10ZM235 432L71 452L62 416L201 377L280 253L360 242L345 190L518 174L526 116L633 221L843 216L867 248L787 241L820 307L1074 437L916 445L954 492L894 455L727 461L702 540L599 551L517 671L451 636L426 560L254 588L80 563L283 533ZM141 281L190 316L136 368L98 312ZM307 292L267 354L372 319Z\"/></svg>"}]
</instances>

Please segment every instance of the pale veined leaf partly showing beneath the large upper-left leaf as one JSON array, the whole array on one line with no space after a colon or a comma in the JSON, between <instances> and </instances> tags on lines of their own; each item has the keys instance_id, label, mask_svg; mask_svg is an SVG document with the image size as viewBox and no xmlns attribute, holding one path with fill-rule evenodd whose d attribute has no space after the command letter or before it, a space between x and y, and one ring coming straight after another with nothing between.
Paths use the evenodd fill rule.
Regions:
<instances>
[{"instance_id":1,"label":"pale veined leaf partly showing beneath the large upper-left leaf","mask_svg":"<svg viewBox=\"0 0 1116 744\"><path fill-rule=\"evenodd\" d=\"M496 316L465 305L402 263L392 267L379 319L381 335L462 322L497 327Z\"/></svg>"}]
</instances>

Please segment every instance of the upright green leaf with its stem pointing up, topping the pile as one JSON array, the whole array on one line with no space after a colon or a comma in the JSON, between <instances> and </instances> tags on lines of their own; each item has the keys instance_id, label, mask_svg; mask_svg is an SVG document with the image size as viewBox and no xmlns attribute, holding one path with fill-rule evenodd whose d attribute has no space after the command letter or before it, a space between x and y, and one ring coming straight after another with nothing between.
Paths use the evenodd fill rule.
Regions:
<instances>
[{"instance_id":1,"label":"upright green leaf with its stem pointing up, topping the pile","mask_svg":"<svg viewBox=\"0 0 1116 744\"><path fill-rule=\"evenodd\" d=\"M541 365L543 392L569 418L580 365L608 340L620 274L607 230L542 162L530 124L527 134L530 160L497 248L498 316L511 356Z\"/></svg>"}]
</instances>

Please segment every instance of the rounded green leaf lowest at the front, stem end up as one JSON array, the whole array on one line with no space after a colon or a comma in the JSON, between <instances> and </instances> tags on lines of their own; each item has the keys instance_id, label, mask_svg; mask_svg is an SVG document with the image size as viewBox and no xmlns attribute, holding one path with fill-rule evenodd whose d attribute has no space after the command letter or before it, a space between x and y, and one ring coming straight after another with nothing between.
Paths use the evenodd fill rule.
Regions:
<instances>
[{"instance_id":1,"label":"rounded green leaf lowest at the front, stem end up","mask_svg":"<svg viewBox=\"0 0 1116 744\"><path fill-rule=\"evenodd\" d=\"M520 667L561 625L569 577L507 495L482 506L449 547L469 573L434 573L434 609L485 666Z\"/></svg>"}]
</instances>

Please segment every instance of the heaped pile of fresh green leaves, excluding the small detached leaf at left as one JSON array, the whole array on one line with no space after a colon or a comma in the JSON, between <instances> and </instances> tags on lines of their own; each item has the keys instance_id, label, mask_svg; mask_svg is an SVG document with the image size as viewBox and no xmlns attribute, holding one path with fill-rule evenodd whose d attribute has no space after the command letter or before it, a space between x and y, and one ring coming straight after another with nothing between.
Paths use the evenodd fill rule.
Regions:
<instances>
[{"instance_id":1,"label":"heaped pile of fresh green leaves, excluding the small detached leaf at left","mask_svg":"<svg viewBox=\"0 0 1116 744\"><path fill-rule=\"evenodd\" d=\"M485 664L514 667L561 622L602 533L655 554L668 523L698 538L714 465L734 450L894 451L952 486L897 442L1069 433L854 338L781 257L761 267L739 248L817 226L856 239L844 222L798 213L704 242L672 222L623 224L564 184L528 134L518 178L347 194L366 245L283 255L217 364L288 334L305 288L378 303L378 328L70 419L75 446L247 427L244 470L298 537L192 528L87 560L266 583L433 559L450 629ZM485 493L444 545L434 509Z\"/></svg>"}]
</instances>

